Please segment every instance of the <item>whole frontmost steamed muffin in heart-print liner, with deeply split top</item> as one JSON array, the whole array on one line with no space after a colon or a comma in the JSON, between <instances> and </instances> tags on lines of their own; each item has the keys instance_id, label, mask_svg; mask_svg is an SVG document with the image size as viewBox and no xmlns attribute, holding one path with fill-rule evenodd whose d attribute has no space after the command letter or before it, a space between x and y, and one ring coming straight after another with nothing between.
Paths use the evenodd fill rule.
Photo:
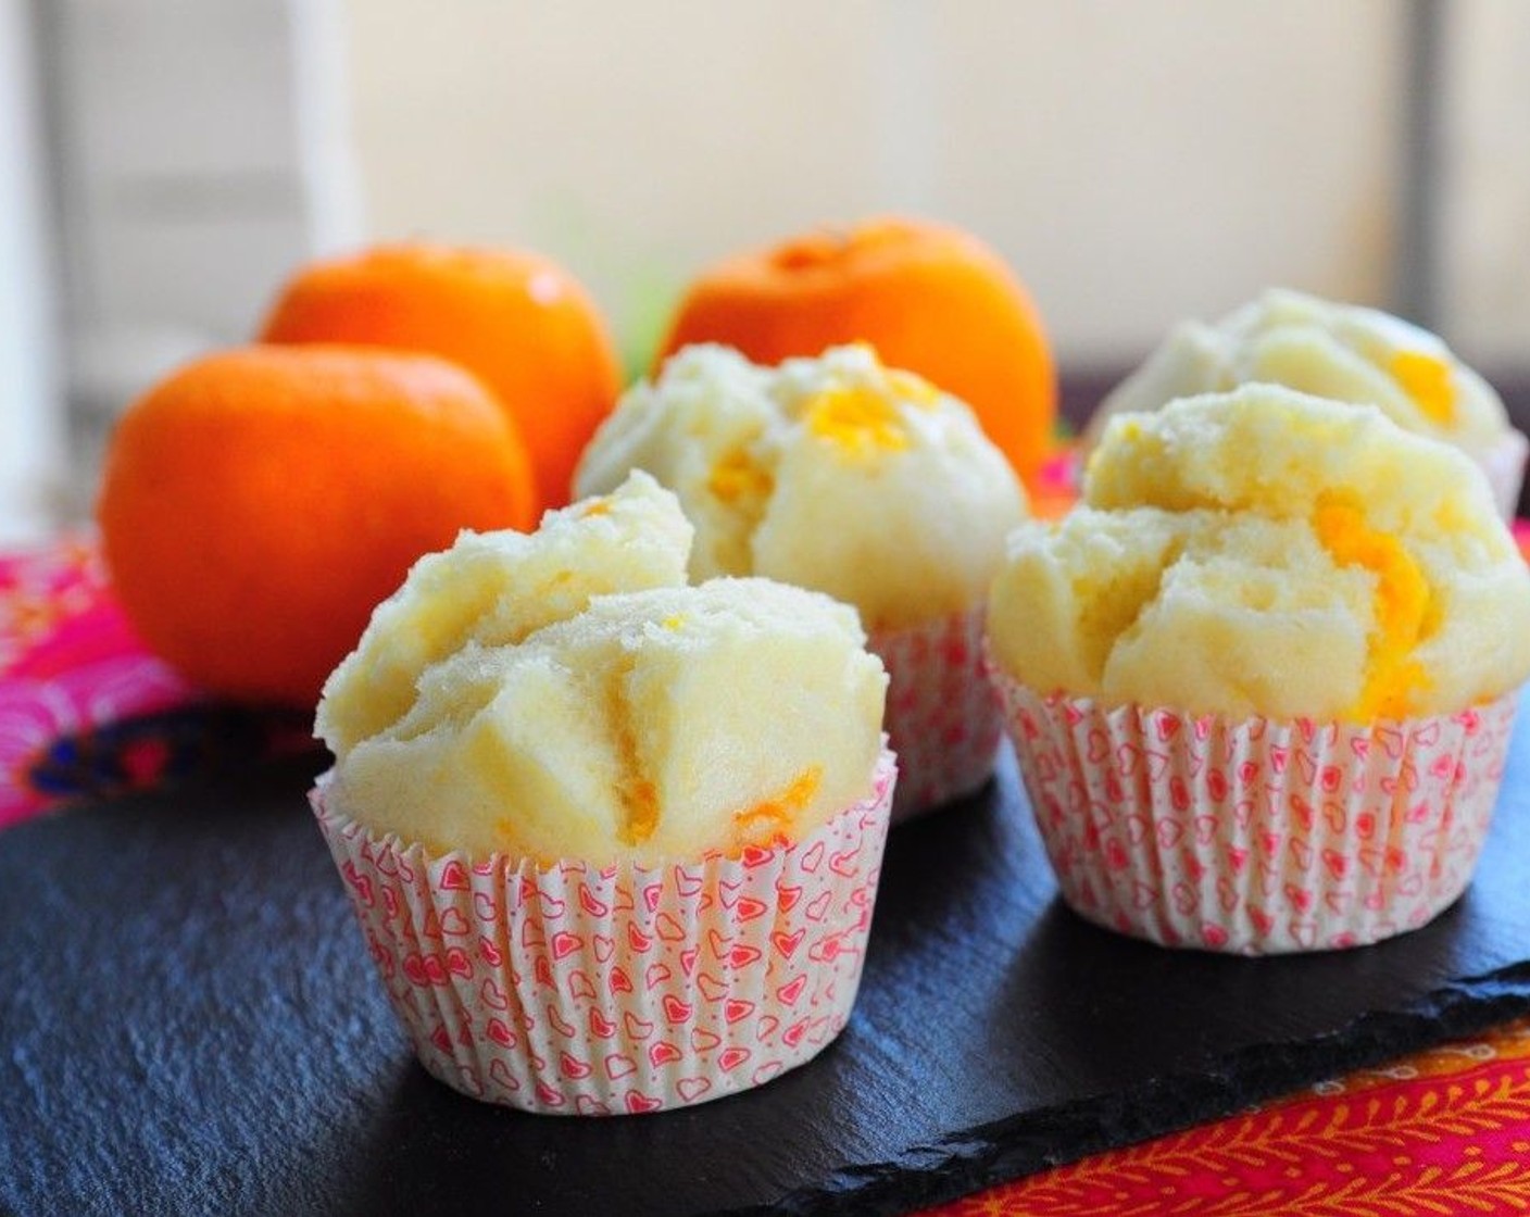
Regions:
<instances>
[{"instance_id":1,"label":"whole frontmost steamed muffin in heart-print liner, with deeply split top","mask_svg":"<svg viewBox=\"0 0 1530 1217\"><path fill-rule=\"evenodd\" d=\"M849 1016L887 677L826 595L687 586L690 542L641 473L464 533L326 684L320 825L416 1053L476 1098L698 1102Z\"/></svg>"}]
</instances>

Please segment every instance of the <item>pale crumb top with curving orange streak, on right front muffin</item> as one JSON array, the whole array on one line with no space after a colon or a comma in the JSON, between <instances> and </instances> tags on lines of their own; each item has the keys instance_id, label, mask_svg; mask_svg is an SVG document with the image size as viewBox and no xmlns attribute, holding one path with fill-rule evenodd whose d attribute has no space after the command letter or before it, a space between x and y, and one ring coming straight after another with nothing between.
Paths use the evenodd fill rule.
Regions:
<instances>
[{"instance_id":1,"label":"pale crumb top with curving orange streak, on right front muffin","mask_svg":"<svg viewBox=\"0 0 1530 1217\"><path fill-rule=\"evenodd\" d=\"M1461 453L1248 384L1114 418L1083 502L1010 539L988 628L1043 692L1401 718L1525 680L1530 573Z\"/></svg>"}]
</instances>

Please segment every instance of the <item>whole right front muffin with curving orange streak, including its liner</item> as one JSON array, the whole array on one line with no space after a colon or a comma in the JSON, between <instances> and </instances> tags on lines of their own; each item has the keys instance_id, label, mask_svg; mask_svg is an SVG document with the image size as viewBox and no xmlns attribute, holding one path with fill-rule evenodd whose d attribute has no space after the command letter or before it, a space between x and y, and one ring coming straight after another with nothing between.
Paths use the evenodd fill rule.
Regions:
<instances>
[{"instance_id":1,"label":"whole right front muffin with curving orange streak, including its liner","mask_svg":"<svg viewBox=\"0 0 1530 1217\"><path fill-rule=\"evenodd\" d=\"M1120 415L1083 502L1011 537L988 618L1085 915L1349 946L1467 882L1530 675L1530 573L1460 452L1267 384Z\"/></svg>"}]
</instances>

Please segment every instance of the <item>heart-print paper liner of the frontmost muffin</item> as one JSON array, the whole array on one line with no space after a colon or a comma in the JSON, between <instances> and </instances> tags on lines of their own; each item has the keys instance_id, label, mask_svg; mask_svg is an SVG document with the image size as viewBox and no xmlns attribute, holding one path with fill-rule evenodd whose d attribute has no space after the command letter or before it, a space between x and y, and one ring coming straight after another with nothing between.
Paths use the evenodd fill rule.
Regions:
<instances>
[{"instance_id":1,"label":"heart-print paper liner of the frontmost muffin","mask_svg":"<svg viewBox=\"0 0 1530 1217\"><path fill-rule=\"evenodd\" d=\"M375 837L311 794L421 1064L476 1099L656 1111L760 1085L849 1018L897 764L800 842L658 866L539 866Z\"/></svg>"}]
</instances>

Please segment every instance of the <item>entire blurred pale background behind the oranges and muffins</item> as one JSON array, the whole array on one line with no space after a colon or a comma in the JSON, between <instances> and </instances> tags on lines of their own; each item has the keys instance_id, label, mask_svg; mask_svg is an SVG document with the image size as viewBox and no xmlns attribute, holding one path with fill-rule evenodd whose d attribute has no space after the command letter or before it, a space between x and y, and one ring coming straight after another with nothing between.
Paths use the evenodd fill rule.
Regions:
<instances>
[{"instance_id":1,"label":"entire blurred pale background behind the oranges and muffins","mask_svg":"<svg viewBox=\"0 0 1530 1217\"><path fill-rule=\"evenodd\" d=\"M1522 0L0 0L0 543L300 260L540 250L641 367L685 279L877 211L1030 286L1074 419L1265 285L1438 329L1530 424Z\"/></svg>"}]
</instances>

